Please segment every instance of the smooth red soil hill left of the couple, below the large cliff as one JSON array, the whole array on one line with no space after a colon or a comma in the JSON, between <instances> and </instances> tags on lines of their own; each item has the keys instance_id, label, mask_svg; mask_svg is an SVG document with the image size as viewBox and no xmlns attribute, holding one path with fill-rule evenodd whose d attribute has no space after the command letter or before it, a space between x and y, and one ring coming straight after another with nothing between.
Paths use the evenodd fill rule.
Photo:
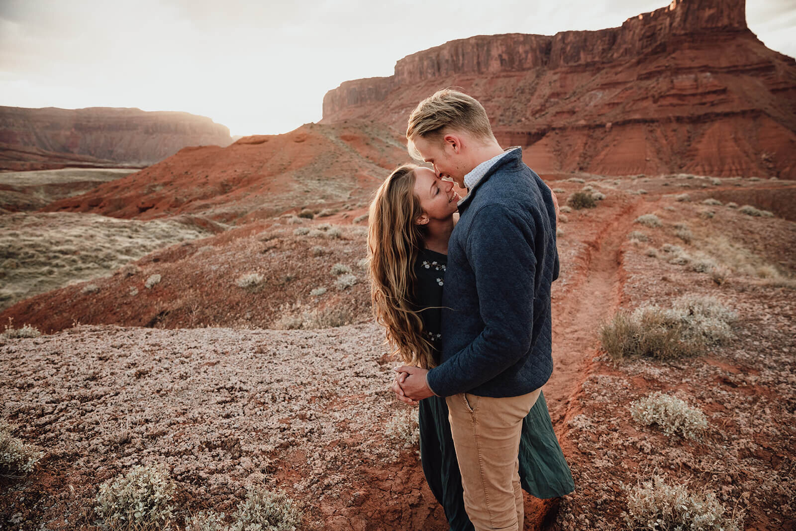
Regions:
<instances>
[{"instance_id":1,"label":"smooth red soil hill left of the couple, below the large cliff","mask_svg":"<svg viewBox=\"0 0 796 531\"><path fill-rule=\"evenodd\" d=\"M388 170L407 159L400 135L388 127L310 123L223 148L187 147L45 210L139 219L203 213L219 221L251 221L295 207L365 201Z\"/></svg>"}]
</instances>

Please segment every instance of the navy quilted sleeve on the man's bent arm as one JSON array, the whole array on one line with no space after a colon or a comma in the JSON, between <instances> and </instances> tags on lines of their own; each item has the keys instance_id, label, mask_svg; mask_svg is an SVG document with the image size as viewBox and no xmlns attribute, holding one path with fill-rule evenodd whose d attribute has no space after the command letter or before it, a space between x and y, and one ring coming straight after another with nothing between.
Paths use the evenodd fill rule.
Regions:
<instances>
[{"instance_id":1,"label":"navy quilted sleeve on the man's bent arm","mask_svg":"<svg viewBox=\"0 0 796 531\"><path fill-rule=\"evenodd\" d=\"M439 396L466 392L514 365L533 335L533 219L502 205L475 213L465 253L472 267L483 330L470 345L428 373Z\"/></svg>"}]
</instances>

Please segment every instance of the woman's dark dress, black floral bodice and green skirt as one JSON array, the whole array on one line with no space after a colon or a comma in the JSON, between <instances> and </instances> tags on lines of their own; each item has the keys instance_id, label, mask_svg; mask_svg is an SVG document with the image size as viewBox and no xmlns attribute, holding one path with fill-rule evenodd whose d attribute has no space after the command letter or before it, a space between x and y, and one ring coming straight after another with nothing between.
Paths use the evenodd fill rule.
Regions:
<instances>
[{"instance_id":1,"label":"woman's dark dress, black floral bodice and green skirt","mask_svg":"<svg viewBox=\"0 0 796 531\"><path fill-rule=\"evenodd\" d=\"M437 363L443 339L442 309L439 306L443 299L446 268L447 256L428 249L420 252L415 264L415 302L423 319L423 334L435 347ZM452 530L474 529L464 510L462 476L458 470L445 399L431 396L420 400L418 420L420 460L431 492L443 506ZM533 496L556 498L574 490L572 474L552 429L544 393L540 393L537 403L522 421L519 458L522 488Z\"/></svg>"}]
</instances>

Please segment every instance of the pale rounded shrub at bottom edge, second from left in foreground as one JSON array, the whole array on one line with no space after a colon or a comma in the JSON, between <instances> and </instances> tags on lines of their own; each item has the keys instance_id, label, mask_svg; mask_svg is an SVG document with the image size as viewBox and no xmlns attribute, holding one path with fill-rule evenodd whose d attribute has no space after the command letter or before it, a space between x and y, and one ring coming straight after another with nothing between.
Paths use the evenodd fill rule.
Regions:
<instances>
[{"instance_id":1,"label":"pale rounded shrub at bottom edge, second from left in foreground","mask_svg":"<svg viewBox=\"0 0 796 531\"><path fill-rule=\"evenodd\" d=\"M171 521L174 482L162 467L133 467L104 482L95 512L111 529L160 529Z\"/></svg>"}]
</instances>

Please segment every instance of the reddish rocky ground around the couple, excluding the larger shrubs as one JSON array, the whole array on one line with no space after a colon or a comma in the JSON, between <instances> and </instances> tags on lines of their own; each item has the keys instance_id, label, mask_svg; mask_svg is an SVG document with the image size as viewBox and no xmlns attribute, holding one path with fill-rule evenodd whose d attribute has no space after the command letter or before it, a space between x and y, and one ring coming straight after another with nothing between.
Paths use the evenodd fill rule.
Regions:
<instances>
[{"instance_id":1,"label":"reddish rocky ground around the couple, excluding the larger shrubs","mask_svg":"<svg viewBox=\"0 0 796 531\"><path fill-rule=\"evenodd\" d=\"M560 222L556 367L545 386L576 491L557 504L526 496L526 529L618 529L625 487L653 474L716 493L728 511L743 512L744 529L793 528L796 228L786 209L755 217L724 200L703 203L743 190L747 197L784 195L793 185L582 177L585 182L550 182L562 204L584 186L606 198L595 209L564 213ZM264 484L301 504L306 529L446 529L416 447L396 430L412 410L387 391L394 362L367 316L357 269L364 223L353 223L360 214L236 228L146 256L135 263L138 270L103 279L93 294L76 285L31 299L41 316L33 324L60 331L0 346L2 417L45 457L28 478L0 480L2 525L90 529L103 481L136 463L162 463L178 482L180 523L201 509L231 513L245 486ZM636 222L645 214L661 225ZM340 228L340 237L322 236L330 230L318 228L324 223ZM295 234L298 227L318 234ZM318 256L314 247L322 248ZM723 276L694 271L700 260L723 267ZM337 262L352 269L357 284L334 287L330 267ZM216 280L214 265L226 267ZM161 271L161 283L143 287L158 267L170 269ZM263 275L261 287L236 287L247 272ZM217 287L195 287L200 277ZM146 315L154 314L156 300L166 304L169 294L185 295L193 286L197 322L181 321L184 315L171 309L150 327L130 326L132 318L125 323L114 309L130 299L124 283L132 281L142 284L135 286L143 295L136 304L149 305ZM328 295L310 295L317 287L327 287ZM158 288L164 291L150 299ZM238 294L234 311L215 299L224 291ZM736 310L731 342L667 363L614 362L599 348L599 326L618 310L667 306L687 293L714 296ZM330 299L323 303L324 297ZM93 317L78 320L92 324L47 324L47 309L74 311L82 299L93 300L84 306ZM337 306L349 308L353 324L267 330L280 312L295 322ZM20 316L20 307L0 317L14 308ZM111 316L105 324L103 309ZM241 318L247 311L249 318ZM15 325L24 322L14 318ZM700 408L708 417L704 438L674 439L635 423L630 403L655 391Z\"/></svg>"}]
</instances>

